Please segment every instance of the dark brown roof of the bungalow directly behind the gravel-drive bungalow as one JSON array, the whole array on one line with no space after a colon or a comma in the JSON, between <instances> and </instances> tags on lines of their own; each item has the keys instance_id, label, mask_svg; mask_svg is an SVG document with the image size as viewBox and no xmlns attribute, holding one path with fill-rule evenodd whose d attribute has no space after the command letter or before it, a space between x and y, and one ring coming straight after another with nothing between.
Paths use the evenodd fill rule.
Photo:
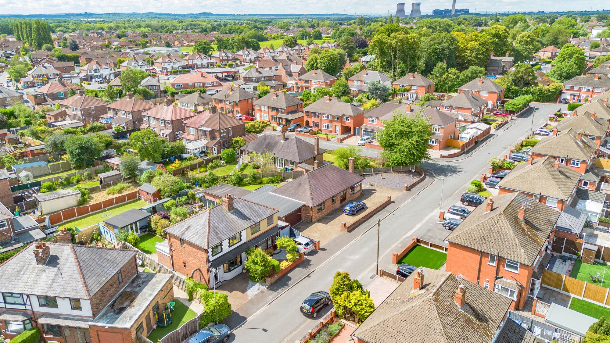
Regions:
<instances>
[{"instance_id":1,"label":"dark brown roof of the bungalow directly behind the gravel-drive bungalow","mask_svg":"<svg viewBox=\"0 0 610 343\"><path fill-rule=\"evenodd\" d=\"M270 152L275 157L296 162L297 164L316 156L314 145L298 137L289 136L282 141L279 135L262 135L244 145L242 150L256 153ZM318 154L326 150L319 149Z\"/></svg>"}]
</instances>

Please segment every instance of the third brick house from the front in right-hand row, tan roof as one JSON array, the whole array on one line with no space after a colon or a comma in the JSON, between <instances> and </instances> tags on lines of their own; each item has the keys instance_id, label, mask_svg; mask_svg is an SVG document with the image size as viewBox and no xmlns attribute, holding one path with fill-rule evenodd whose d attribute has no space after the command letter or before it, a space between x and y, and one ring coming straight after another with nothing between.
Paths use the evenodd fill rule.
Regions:
<instances>
[{"instance_id":1,"label":"third brick house from the front in right-hand row, tan roof","mask_svg":"<svg viewBox=\"0 0 610 343\"><path fill-rule=\"evenodd\" d=\"M553 157L517 164L498 184L499 194L519 192L550 208L563 211L575 196L581 174Z\"/></svg>"}]
</instances>

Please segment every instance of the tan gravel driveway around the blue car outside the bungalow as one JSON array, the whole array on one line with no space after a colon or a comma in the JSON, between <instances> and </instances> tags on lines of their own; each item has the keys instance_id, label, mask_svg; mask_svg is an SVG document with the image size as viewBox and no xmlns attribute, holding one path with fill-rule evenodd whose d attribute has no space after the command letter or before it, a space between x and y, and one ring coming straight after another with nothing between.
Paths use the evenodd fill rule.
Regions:
<instances>
[{"instance_id":1,"label":"tan gravel driveway around the blue car outside the bungalow","mask_svg":"<svg viewBox=\"0 0 610 343\"><path fill-rule=\"evenodd\" d=\"M356 200L364 201L367 204L367 208L364 211L360 211L356 215L347 215L343 213L343 206L328 212L320 220L315 223L301 222L295 226L303 236L309 237L310 239L320 240L320 246L323 247L329 240L340 234L341 223L345 222L346 225L350 225L356 222L358 218L361 218L367 211L374 209L379 204L387 200L387 196L390 195L392 199L395 199L403 193L401 190L392 189L384 186L372 186L367 187L367 184L362 184L362 195Z\"/></svg>"}]
</instances>

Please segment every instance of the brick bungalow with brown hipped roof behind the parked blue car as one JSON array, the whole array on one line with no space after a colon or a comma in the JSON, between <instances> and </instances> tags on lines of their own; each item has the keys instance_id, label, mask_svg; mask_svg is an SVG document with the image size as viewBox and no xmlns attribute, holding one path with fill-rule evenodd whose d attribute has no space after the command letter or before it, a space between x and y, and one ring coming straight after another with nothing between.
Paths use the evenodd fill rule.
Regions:
<instances>
[{"instance_id":1,"label":"brick bungalow with brown hipped roof behind the parked blue car","mask_svg":"<svg viewBox=\"0 0 610 343\"><path fill-rule=\"evenodd\" d=\"M364 176L353 173L353 161L350 159L350 171L330 163L317 168L314 164L314 170L272 190L271 193L301 201L304 203L301 208L303 220L317 222L332 210L340 208L346 201L361 195Z\"/></svg>"}]
</instances>

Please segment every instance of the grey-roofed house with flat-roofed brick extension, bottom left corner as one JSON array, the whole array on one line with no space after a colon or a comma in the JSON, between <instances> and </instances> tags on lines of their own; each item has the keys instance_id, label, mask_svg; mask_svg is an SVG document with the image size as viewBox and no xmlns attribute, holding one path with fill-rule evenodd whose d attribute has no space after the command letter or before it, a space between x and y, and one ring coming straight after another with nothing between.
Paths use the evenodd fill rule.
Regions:
<instances>
[{"instance_id":1,"label":"grey-roofed house with flat-roofed brick extension, bottom left corner","mask_svg":"<svg viewBox=\"0 0 610 343\"><path fill-rule=\"evenodd\" d=\"M65 230L58 240L71 240ZM137 342L173 301L171 276L138 273L135 251L43 242L0 265L2 332L38 327L43 342ZM129 299L129 306L125 306ZM76 339L76 341L74 341Z\"/></svg>"}]
</instances>

